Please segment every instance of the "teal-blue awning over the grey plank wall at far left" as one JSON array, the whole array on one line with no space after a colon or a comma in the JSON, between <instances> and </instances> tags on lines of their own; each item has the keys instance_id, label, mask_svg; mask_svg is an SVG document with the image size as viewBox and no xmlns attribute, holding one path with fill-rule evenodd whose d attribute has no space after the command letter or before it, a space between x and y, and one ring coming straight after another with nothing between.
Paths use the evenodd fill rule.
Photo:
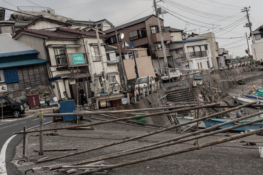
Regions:
<instances>
[{"instance_id":1,"label":"teal-blue awning over the grey plank wall at far left","mask_svg":"<svg viewBox=\"0 0 263 175\"><path fill-rule=\"evenodd\" d=\"M31 66L31 65L39 65L48 62L48 60L44 59L28 59L28 60L8 60L8 62L0 61L0 69L11 68L11 67L23 67L23 66Z\"/></svg>"}]
</instances>

